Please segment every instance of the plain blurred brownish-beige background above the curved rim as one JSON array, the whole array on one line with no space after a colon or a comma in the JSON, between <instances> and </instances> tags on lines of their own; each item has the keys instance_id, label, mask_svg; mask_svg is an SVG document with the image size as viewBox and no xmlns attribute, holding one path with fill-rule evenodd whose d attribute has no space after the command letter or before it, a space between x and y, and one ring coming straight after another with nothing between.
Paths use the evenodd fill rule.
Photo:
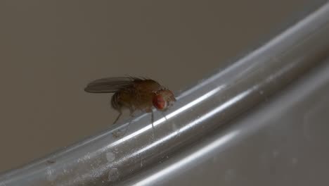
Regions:
<instances>
[{"instance_id":1,"label":"plain blurred brownish-beige background above the curved rim","mask_svg":"<svg viewBox=\"0 0 329 186\"><path fill-rule=\"evenodd\" d=\"M87 82L143 75L179 92L314 2L0 1L0 172L108 128L111 95Z\"/></svg>"}]
</instances>

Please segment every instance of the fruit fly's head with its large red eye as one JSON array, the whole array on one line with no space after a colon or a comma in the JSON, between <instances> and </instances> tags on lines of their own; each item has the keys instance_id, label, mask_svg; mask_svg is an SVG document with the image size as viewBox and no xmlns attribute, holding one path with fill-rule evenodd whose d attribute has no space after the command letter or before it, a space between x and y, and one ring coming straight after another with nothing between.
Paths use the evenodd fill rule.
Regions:
<instances>
[{"instance_id":1,"label":"fruit fly's head with its large red eye","mask_svg":"<svg viewBox=\"0 0 329 186\"><path fill-rule=\"evenodd\" d=\"M176 101L174 94L169 89L160 89L153 93L153 106L159 111L165 111Z\"/></svg>"}]
</instances>

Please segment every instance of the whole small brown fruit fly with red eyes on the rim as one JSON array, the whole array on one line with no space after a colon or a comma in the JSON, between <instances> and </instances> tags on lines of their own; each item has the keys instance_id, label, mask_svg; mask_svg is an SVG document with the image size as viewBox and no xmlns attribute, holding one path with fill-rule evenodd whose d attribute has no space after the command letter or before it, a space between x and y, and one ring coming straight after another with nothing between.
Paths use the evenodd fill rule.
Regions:
<instances>
[{"instance_id":1,"label":"whole small brown fruit fly with red eyes on the rim","mask_svg":"<svg viewBox=\"0 0 329 186\"><path fill-rule=\"evenodd\" d=\"M123 109L129 109L130 116L136 110L152 113L154 128L153 106L158 111L165 111L176 101L172 91L148 78L105 77L90 82L84 90L91 93L114 93L111 106L119 115L113 124L122 116Z\"/></svg>"}]
</instances>

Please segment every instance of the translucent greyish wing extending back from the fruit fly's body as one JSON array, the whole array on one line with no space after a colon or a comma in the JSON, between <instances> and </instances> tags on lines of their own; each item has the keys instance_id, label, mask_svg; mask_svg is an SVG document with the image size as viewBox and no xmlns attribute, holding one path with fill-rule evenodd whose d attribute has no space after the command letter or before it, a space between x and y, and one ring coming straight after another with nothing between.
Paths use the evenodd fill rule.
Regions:
<instances>
[{"instance_id":1,"label":"translucent greyish wing extending back from the fruit fly's body","mask_svg":"<svg viewBox=\"0 0 329 186\"><path fill-rule=\"evenodd\" d=\"M129 88L134 81L138 80L136 77L105 77L90 82L84 91L91 93L113 93L122 88Z\"/></svg>"}]
</instances>

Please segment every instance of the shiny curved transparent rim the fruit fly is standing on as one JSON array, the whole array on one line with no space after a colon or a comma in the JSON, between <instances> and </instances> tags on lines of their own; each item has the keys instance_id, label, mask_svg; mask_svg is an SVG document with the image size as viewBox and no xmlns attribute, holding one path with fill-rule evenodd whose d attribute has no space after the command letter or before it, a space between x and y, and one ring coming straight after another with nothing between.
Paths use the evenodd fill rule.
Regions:
<instances>
[{"instance_id":1,"label":"shiny curved transparent rim the fruit fly is standing on","mask_svg":"<svg viewBox=\"0 0 329 186\"><path fill-rule=\"evenodd\" d=\"M329 4L225 70L183 92L163 113L130 124L0 175L0 185L109 185L158 163L283 89L325 58ZM127 130L121 137L117 130Z\"/></svg>"}]
</instances>

